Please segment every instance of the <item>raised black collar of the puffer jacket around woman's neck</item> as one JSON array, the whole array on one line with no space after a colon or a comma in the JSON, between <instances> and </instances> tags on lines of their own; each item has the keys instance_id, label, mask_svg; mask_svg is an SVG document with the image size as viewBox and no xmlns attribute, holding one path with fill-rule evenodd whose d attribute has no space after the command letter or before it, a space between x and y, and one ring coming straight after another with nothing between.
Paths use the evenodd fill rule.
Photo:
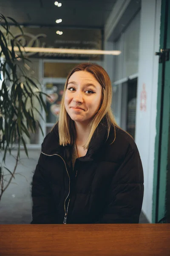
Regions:
<instances>
[{"instance_id":1,"label":"raised black collar of the puffer jacket around woman's neck","mask_svg":"<svg viewBox=\"0 0 170 256\"><path fill-rule=\"evenodd\" d=\"M94 160L95 155L97 154L99 148L107 140L107 122L103 119L94 135L91 139L91 142L88 147L88 151L84 157L79 157L81 161L91 161ZM69 152L71 152L71 145L61 146L59 145L59 132L58 132L58 123L54 126L53 130L45 137L42 143L42 152L47 155L59 154L62 157L69 157Z\"/></svg>"}]
</instances>

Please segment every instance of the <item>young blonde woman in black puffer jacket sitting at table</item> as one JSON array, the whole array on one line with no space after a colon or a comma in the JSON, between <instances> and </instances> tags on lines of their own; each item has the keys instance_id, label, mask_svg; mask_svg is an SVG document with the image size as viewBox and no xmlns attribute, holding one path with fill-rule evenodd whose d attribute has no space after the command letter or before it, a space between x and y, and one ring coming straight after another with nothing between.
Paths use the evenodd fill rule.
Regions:
<instances>
[{"instance_id":1,"label":"young blonde woman in black puffer jacket sitting at table","mask_svg":"<svg viewBox=\"0 0 170 256\"><path fill-rule=\"evenodd\" d=\"M111 81L99 65L79 64L68 74L59 122L33 176L31 224L139 222L142 163L111 101Z\"/></svg>"}]
</instances>

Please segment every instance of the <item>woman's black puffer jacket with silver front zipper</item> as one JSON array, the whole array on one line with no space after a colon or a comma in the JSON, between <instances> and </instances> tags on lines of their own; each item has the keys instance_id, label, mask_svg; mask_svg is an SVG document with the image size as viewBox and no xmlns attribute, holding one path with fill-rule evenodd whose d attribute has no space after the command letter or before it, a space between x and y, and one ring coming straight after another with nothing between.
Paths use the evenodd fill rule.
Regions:
<instances>
[{"instance_id":1,"label":"woman's black puffer jacket with silver front zipper","mask_svg":"<svg viewBox=\"0 0 170 256\"><path fill-rule=\"evenodd\" d=\"M59 145L58 125L45 137L33 176L31 224L139 222L144 178L138 149L118 128L113 144L113 127L106 139L100 123L73 170L71 146Z\"/></svg>"}]
</instances>

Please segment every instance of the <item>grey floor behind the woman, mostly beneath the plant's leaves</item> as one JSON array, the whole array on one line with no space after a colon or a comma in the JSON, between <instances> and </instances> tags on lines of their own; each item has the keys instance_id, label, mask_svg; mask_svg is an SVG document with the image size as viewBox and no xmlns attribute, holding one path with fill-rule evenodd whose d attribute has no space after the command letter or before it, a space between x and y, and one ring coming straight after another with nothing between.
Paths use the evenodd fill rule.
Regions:
<instances>
[{"instance_id":1,"label":"grey floor behind the woman, mostly beneath the plant's leaves","mask_svg":"<svg viewBox=\"0 0 170 256\"><path fill-rule=\"evenodd\" d=\"M16 155L16 151L13 154ZM21 151L15 179L12 180L0 201L0 224L30 224L32 220L31 182L40 150L28 150L28 154L29 159L25 152ZM2 163L2 156L0 156L0 163ZM7 155L6 167L12 170L14 163L14 157ZM143 213L139 223L148 223Z\"/></svg>"}]
</instances>

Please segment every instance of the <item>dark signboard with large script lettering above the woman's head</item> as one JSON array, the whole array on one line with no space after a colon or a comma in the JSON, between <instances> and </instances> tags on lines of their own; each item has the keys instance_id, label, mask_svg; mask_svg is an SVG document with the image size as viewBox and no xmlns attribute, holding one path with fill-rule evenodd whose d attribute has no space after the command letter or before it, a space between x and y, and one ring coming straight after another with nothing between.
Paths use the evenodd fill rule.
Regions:
<instances>
[{"instance_id":1,"label":"dark signboard with large script lettering above the woman's head","mask_svg":"<svg viewBox=\"0 0 170 256\"><path fill-rule=\"evenodd\" d=\"M63 34L56 34L56 28L22 28L11 27L11 33L24 47L47 47L65 49L96 49L102 50L101 29L62 29ZM32 58L60 58L80 60L102 60L102 55L27 52L27 57Z\"/></svg>"}]
</instances>

